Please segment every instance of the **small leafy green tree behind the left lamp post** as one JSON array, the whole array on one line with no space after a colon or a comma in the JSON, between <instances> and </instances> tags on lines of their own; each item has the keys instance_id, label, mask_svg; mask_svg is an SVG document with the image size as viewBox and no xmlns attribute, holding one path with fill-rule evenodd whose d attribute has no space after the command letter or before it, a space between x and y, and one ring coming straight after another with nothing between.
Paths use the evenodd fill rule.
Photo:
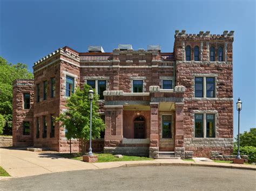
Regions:
<instances>
[{"instance_id":1,"label":"small leafy green tree behind the left lamp post","mask_svg":"<svg viewBox=\"0 0 256 191\"><path fill-rule=\"evenodd\" d=\"M67 111L56 119L66 131L66 138L76 138L82 143L82 153L85 154L86 143L90 139L90 100L88 91L90 86L85 84L83 89L76 88L74 94L68 98ZM92 100L92 139L99 138L100 132L105 129L105 124L100 118L98 95Z\"/></svg>"}]
</instances>

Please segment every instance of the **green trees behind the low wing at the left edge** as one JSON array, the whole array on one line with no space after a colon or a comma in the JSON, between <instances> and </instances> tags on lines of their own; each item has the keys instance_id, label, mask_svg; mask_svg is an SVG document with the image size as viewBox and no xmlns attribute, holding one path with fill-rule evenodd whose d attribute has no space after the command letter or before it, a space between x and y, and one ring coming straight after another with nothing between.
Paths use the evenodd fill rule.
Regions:
<instances>
[{"instance_id":1,"label":"green trees behind the low wing at the left edge","mask_svg":"<svg viewBox=\"0 0 256 191\"><path fill-rule=\"evenodd\" d=\"M23 63L12 65L0 57L0 114L4 117L4 132L12 128L12 82L16 79L33 79L33 74Z\"/></svg>"}]
</instances>

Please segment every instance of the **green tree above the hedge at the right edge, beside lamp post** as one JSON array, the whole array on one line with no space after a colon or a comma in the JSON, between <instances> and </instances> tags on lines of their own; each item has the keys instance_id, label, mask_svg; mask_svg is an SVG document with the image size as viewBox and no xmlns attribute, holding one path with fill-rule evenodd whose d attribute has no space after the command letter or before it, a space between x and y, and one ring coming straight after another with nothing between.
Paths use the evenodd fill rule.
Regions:
<instances>
[{"instance_id":1,"label":"green tree above the hedge at the right edge, beside lamp post","mask_svg":"<svg viewBox=\"0 0 256 191\"><path fill-rule=\"evenodd\" d=\"M238 136L235 140L238 142ZM249 132L240 133L240 146L256 147L256 128L251 128Z\"/></svg>"}]
</instances>

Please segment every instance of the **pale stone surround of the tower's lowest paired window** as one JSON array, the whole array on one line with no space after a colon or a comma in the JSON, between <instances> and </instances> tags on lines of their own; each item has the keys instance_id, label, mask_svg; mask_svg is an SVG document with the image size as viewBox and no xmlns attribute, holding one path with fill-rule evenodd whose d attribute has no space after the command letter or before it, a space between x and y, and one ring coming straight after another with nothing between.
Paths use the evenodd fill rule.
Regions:
<instances>
[{"instance_id":1,"label":"pale stone surround of the tower's lowest paired window","mask_svg":"<svg viewBox=\"0 0 256 191\"><path fill-rule=\"evenodd\" d=\"M194 128L195 128L195 121L194 121L194 115L195 114L203 114L203 133L204 133L204 137L195 137L194 135ZM210 110L207 110L207 111L199 111L199 110L194 110L193 113L192 113L192 121L193 121L193 125L192 125L192 135L193 135L193 138L206 138L206 139L210 139L208 137L206 137L206 114L214 114L214 130L215 130L215 137L211 137L211 138L217 138L219 133L218 133L218 111L210 111Z\"/></svg>"}]
</instances>

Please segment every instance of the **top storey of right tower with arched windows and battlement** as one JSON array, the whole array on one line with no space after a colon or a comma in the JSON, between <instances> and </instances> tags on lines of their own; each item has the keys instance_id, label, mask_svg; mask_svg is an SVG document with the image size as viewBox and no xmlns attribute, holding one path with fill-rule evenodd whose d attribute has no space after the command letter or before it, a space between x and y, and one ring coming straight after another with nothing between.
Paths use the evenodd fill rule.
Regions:
<instances>
[{"instance_id":1,"label":"top storey of right tower with arched windows and battlement","mask_svg":"<svg viewBox=\"0 0 256 191\"><path fill-rule=\"evenodd\" d=\"M198 34L187 34L185 30L175 31L174 59L177 61L203 61L232 63L234 31L223 34L210 34L200 31ZM220 55L221 58L218 56ZM187 55L187 53L189 55ZM210 55L211 54L211 55ZM211 58L212 56L212 58Z\"/></svg>"}]
</instances>

